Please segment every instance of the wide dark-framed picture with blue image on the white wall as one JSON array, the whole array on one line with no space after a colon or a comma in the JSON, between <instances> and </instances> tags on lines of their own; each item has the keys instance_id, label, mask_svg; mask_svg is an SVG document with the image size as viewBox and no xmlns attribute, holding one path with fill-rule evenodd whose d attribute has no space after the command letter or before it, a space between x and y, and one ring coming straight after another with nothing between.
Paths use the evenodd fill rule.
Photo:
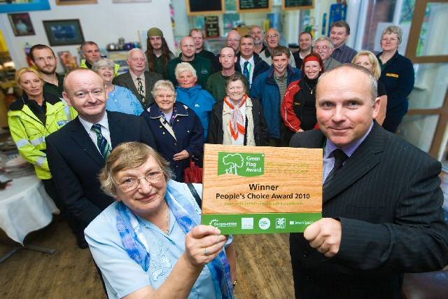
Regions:
<instances>
[{"instance_id":1,"label":"wide dark-framed picture with blue image on the white wall","mask_svg":"<svg viewBox=\"0 0 448 299\"><path fill-rule=\"evenodd\" d=\"M79 19L42 21L50 46L80 45L84 43Z\"/></svg>"}]
</instances>

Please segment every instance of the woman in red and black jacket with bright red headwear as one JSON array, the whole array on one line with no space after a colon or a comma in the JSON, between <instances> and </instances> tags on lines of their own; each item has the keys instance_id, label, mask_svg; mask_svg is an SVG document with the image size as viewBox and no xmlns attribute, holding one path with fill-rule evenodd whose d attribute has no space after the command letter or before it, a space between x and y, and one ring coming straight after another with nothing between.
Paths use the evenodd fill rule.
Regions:
<instances>
[{"instance_id":1,"label":"woman in red and black jacket with bright red headwear","mask_svg":"<svg viewBox=\"0 0 448 299\"><path fill-rule=\"evenodd\" d=\"M286 90L281 103L281 117L286 127L294 133L318 128L316 85L323 70L321 57L311 52L303 60L303 78L291 82Z\"/></svg>"}]
</instances>

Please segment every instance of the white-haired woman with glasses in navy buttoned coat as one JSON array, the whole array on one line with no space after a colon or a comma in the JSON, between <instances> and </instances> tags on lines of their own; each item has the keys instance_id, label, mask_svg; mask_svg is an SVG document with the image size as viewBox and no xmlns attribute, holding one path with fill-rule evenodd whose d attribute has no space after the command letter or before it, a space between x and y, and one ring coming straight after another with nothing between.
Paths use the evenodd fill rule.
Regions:
<instances>
[{"instance_id":1,"label":"white-haired woman with glasses in navy buttoned coat","mask_svg":"<svg viewBox=\"0 0 448 299\"><path fill-rule=\"evenodd\" d=\"M202 161L204 129L192 109L176 102L173 83L157 81L151 93L155 103L141 116L153 132L163 158L169 161L174 179L183 182L183 169L190 165L190 159Z\"/></svg>"}]
</instances>

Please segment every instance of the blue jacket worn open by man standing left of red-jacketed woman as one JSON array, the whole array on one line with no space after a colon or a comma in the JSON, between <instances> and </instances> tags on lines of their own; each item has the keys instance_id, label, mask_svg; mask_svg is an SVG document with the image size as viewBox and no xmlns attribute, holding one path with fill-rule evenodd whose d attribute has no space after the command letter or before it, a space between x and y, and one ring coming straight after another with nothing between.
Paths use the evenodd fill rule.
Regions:
<instances>
[{"instance_id":1,"label":"blue jacket worn open by man standing left of red-jacketed woman","mask_svg":"<svg viewBox=\"0 0 448 299\"><path fill-rule=\"evenodd\" d=\"M293 81L302 78L302 71L288 66L288 80L286 87ZM280 124L283 123L280 115L280 106L283 99L280 98L279 85L274 80L274 66L260 74L251 87L251 99L258 99L265 113L269 138L280 138Z\"/></svg>"}]
</instances>

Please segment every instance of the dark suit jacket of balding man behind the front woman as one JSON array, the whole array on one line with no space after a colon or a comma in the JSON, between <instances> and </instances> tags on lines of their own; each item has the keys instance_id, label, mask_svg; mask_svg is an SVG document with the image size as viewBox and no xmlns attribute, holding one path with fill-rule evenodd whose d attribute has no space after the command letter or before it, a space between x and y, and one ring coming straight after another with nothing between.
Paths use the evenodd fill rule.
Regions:
<instances>
[{"instance_id":1,"label":"dark suit jacket of balding man behind the front woman","mask_svg":"<svg viewBox=\"0 0 448 299\"><path fill-rule=\"evenodd\" d=\"M127 141L139 141L153 148L155 141L143 118L107 111L111 146ZM114 200L101 189L98 174L104 158L85 131L79 118L48 135L48 166L59 197L80 231L89 225Z\"/></svg>"}]
</instances>

